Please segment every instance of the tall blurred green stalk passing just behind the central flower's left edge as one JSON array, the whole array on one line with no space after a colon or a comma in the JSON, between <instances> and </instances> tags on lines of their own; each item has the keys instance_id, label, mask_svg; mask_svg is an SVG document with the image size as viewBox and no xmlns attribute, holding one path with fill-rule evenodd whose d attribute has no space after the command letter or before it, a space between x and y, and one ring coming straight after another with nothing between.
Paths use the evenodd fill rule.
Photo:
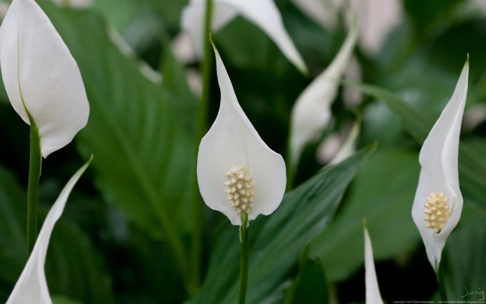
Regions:
<instances>
[{"instance_id":1,"label":"tall blurred green stalk passing just behind the central flower's left edge","mask_svg":"<svg viewBox=\"0 0 486 304\"><path fill-rule=\"evenodd\" d=\"M197 138L196 142L199 143L208 129L208 107L209 107L209 90L211 81L211 63L213 52L211 49L211 43L209 41L210 25L212 14L212 0L206 1L206 19L205 19L205 38L204 38L204 61L202 65L203 75L203 91L201 94L201 101L199 103L197 111ZM197 152L196 145L196 152ZM200 286L201 270L201 234L203 227L203 201L199 194L199 188L197 185L197 179L194 178L194 196L192 199L192 223L193 229L191 234L191 270L192 270L192 286L189 290L190 295L197 292Z\"/></svg>"}]
</instances>

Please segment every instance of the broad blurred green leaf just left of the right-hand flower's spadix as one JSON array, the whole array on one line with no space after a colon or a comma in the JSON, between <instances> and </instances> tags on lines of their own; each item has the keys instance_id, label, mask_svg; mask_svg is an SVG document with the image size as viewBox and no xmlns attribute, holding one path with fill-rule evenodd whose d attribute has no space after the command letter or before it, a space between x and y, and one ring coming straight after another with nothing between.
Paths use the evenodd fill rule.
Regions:
<instances>
[{"instance_id":1,"label":"broad blurred green leaf just left of the right-hand flower's spadix","mask_svg":"<svg viewBox=\"0 0 486 304\"><path fill-rule=\"evenodd\" d=\"M420 166L418 155L379 150L356 174L339 214L311 243L309 256L320 258L330 281L342 281L364 263L363 218L373 235L377 260L416 246L420 240L411 211Z\"/></svg>"}]
</instances>

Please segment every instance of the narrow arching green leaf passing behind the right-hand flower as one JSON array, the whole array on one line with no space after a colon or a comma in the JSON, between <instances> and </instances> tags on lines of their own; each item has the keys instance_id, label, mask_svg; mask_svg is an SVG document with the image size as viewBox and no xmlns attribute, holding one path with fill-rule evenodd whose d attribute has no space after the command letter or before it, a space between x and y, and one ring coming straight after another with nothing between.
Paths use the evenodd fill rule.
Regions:
<instances>
[{"instance_id":1,"label":"narrow arching green leaf passing behind the right-hand flower","mask_svg":"<svg viewBox=\"0 0 486 304\"><path fill-rule=\"evenodd\" d=\"M395 114L399 116L408 132L423 143L434 126L435 119L423 115L413 107L407 105L397 95L380 87L369 84L345 82L362 90L365 94L374 96L384 102ZM486 208L486 162L467 142L459 143L459 180L461 190L477 203Z\"/></svg>"}]
</instances>

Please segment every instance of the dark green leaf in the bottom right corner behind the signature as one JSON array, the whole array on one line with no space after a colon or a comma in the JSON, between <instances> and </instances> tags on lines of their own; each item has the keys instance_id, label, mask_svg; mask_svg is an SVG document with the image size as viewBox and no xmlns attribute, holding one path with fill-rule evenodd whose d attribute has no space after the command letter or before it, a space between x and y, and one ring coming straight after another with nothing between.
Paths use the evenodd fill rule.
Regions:
<instances>
[{"instance_id":1,"label":"dark green leaf in the bottom right corner behind the signature","mask_svg":"<svg viewBox=\"0 0 486 304\"><path fill-rule=\"evenodd\" d=\"M449 300L485 299L483 297L486 289L485 222L484 209L479 208L477 204L464 204L461 219L449 236L442 253Z\"/></svg>"}]
</instances>

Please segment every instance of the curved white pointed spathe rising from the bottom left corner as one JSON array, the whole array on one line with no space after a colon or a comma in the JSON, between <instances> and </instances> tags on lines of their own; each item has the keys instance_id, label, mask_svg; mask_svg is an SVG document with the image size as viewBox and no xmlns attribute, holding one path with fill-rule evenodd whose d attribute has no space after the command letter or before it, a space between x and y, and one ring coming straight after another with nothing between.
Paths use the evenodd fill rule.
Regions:
<instances>
[{"instance_id":1,"label":"curved white pointed spathe rising from the bottom left corner","mask_svg":"<svg viewBox=\"0 0 486 304\"><path fill-rule=\"evenodd\" d=\"M89 161L69 179L68 183L62 189L61 194L59 194L59 197L57 197L52 205L35 241L34 250L32 250L27 264L25 264L6 304L52 304L46 274L44 272L44 264L46 262L46 254L52 230L64 211L64 206L66 206L72 188L86 171L92 158L91 156Z\"/></svg>"}]
</instances>

